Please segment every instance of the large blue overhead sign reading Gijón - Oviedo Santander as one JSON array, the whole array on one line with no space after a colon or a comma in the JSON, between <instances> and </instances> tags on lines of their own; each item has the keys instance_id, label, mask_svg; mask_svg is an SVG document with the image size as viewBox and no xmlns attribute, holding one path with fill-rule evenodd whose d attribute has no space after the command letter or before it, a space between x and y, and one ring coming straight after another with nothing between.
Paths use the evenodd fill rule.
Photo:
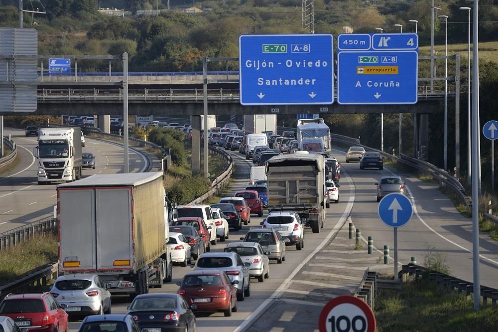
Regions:
<instances>
[{"instance_id":1,"label":"large blue overhead sign reading Gij\u00f3n - Oviedo Santander","mask_svg":"<svg viewBox=\"0 0 498 332\"><path fill-rule=\"evenodd\" d=\"M241 35L241 104L332 104L333 50L331 34Z\"/></svg>"}]
</instances>

